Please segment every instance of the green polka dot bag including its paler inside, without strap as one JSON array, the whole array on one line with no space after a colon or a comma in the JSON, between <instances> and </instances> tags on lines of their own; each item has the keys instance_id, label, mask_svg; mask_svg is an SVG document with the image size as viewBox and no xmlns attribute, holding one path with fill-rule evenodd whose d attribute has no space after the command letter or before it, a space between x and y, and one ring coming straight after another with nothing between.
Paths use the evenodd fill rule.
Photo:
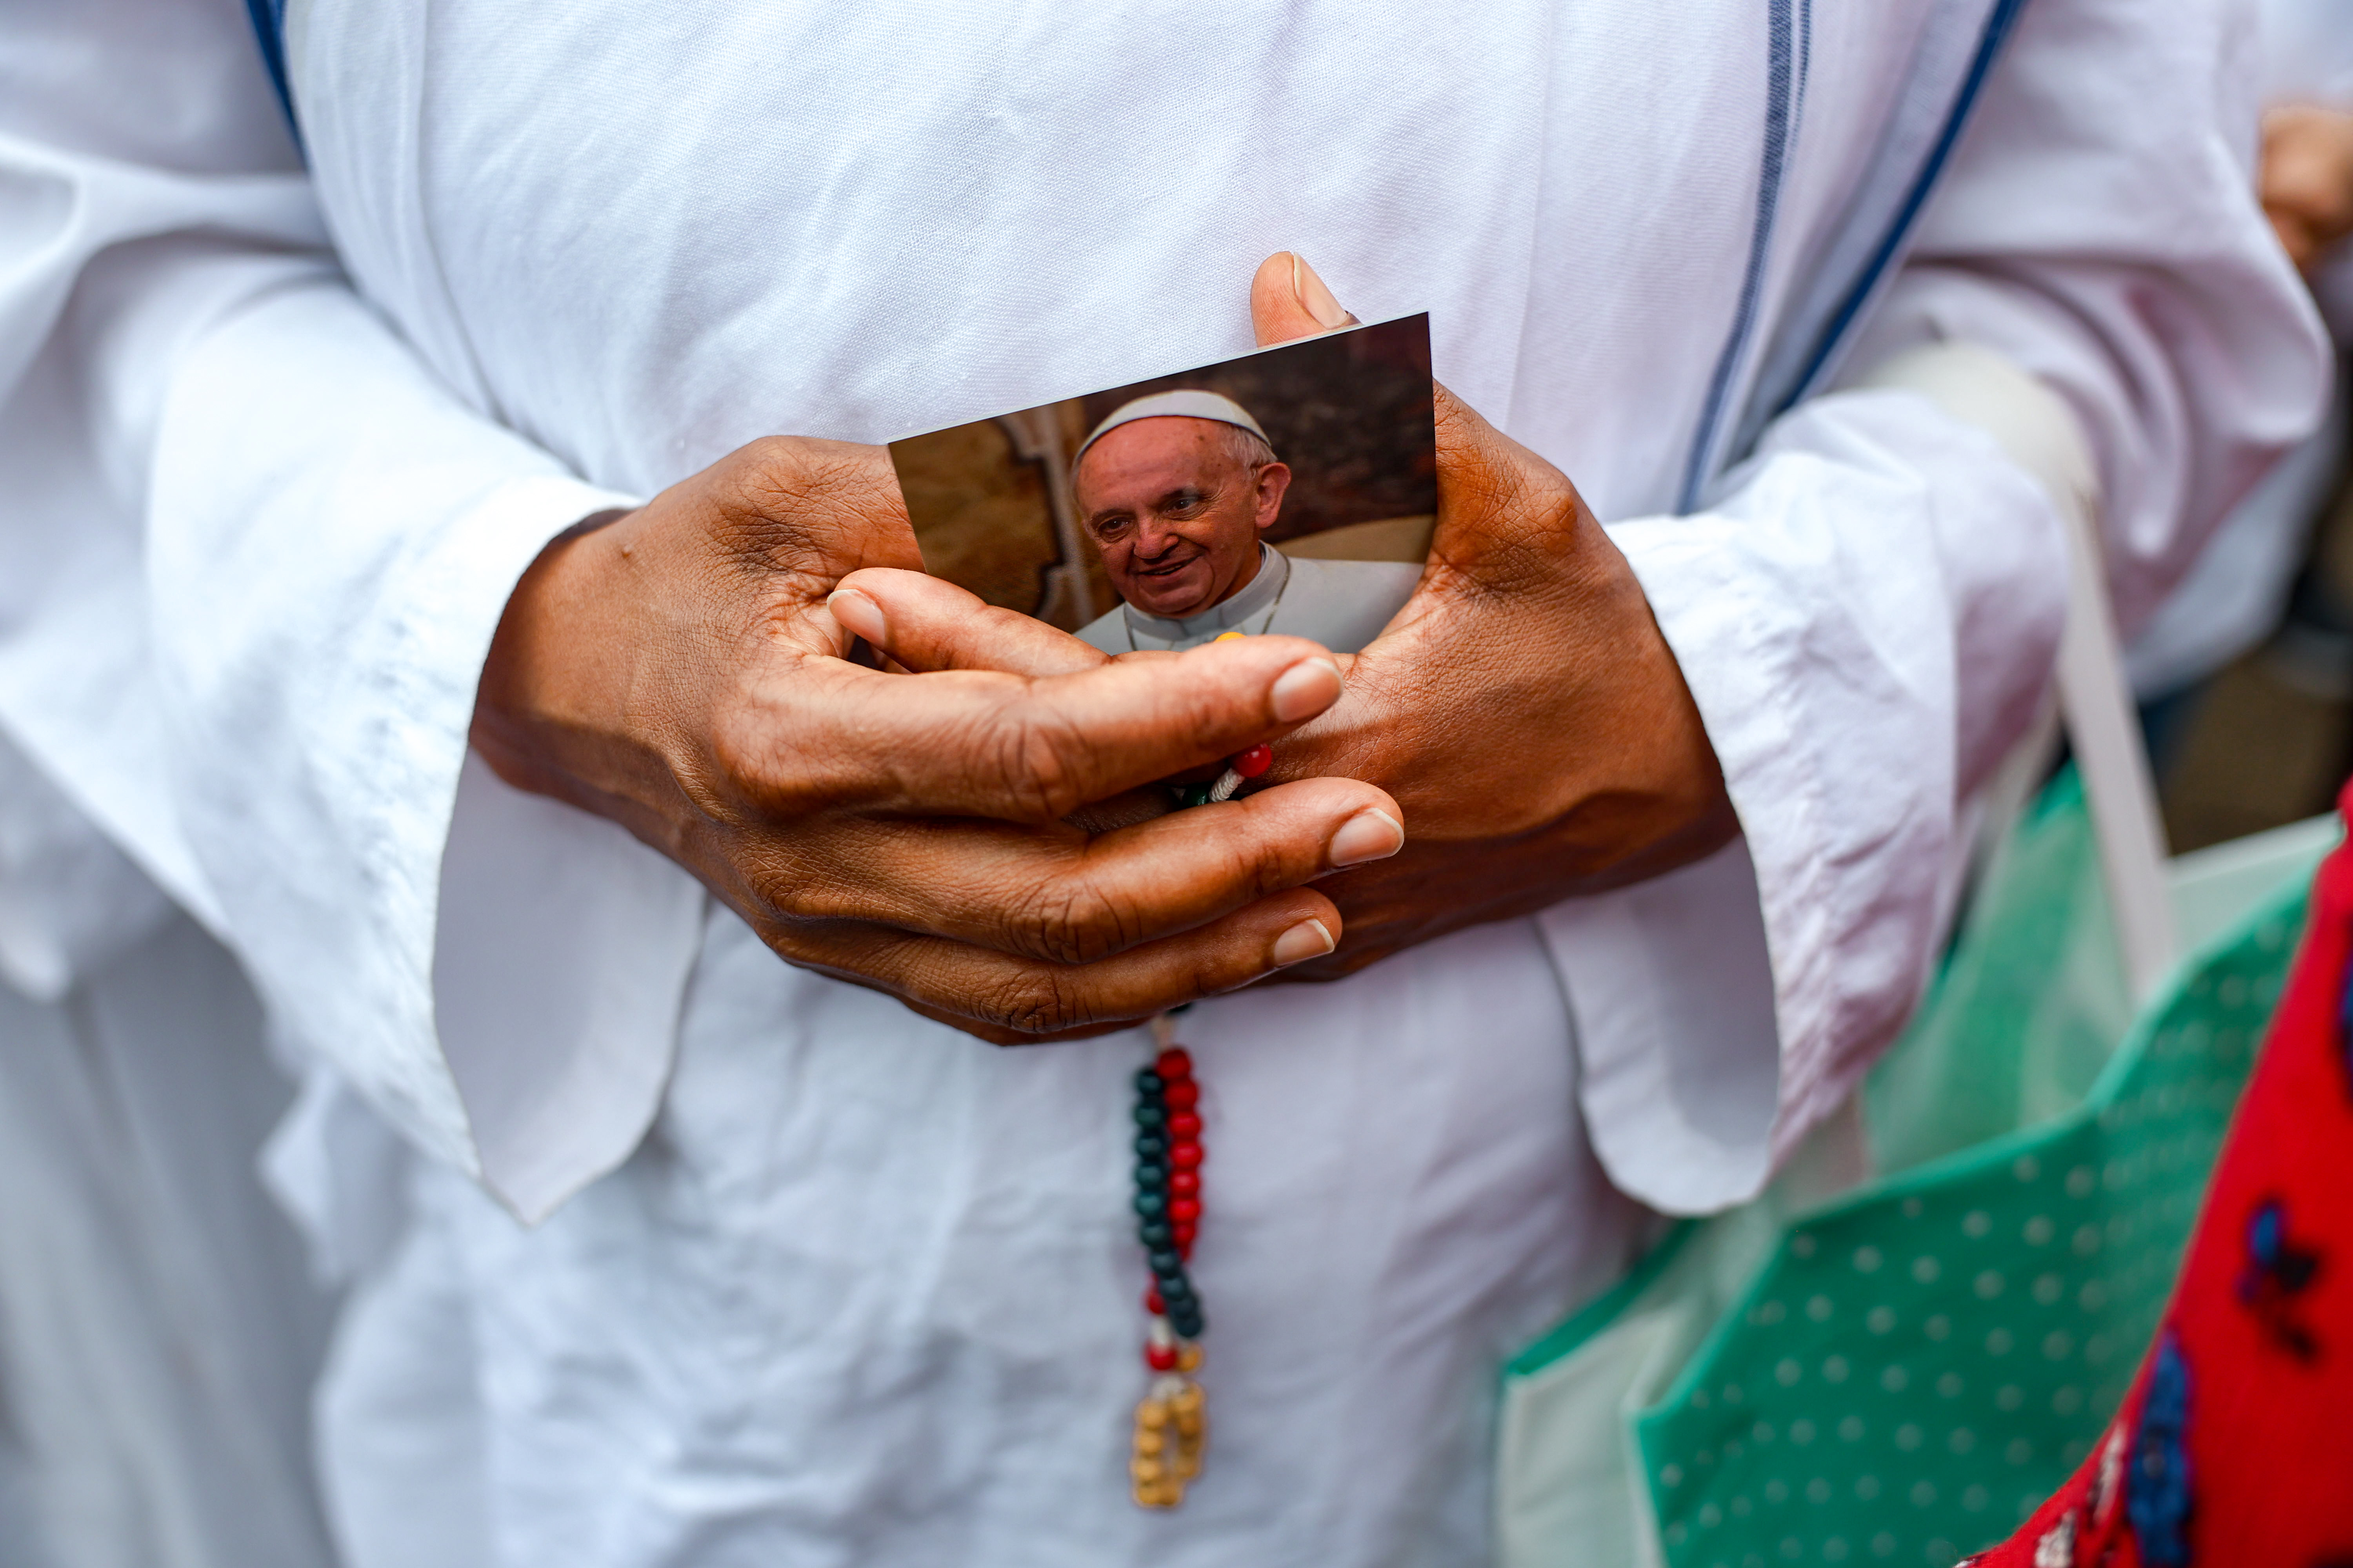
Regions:
<instances>
[{"instance_id":1,"label":"green polka dot bag including its paler inside, without strap","mask_svg":"<svg viewBox=\"0 0 2353 1568\"><path fill-rule=\"evenodd\" d=\"M2104 1051L2085 1037L2120 992L2085 952L2106 938L2049 919L2097 903L2071 780L2017 851L1882 1070L1904 1081L1871 1143L1911 1168L1807 1204L1800 1166L1511 1366L1506 1568L1944 1568L2085 1458L2155 1331L2318 853Z\"/></svg>"}]
</instances>

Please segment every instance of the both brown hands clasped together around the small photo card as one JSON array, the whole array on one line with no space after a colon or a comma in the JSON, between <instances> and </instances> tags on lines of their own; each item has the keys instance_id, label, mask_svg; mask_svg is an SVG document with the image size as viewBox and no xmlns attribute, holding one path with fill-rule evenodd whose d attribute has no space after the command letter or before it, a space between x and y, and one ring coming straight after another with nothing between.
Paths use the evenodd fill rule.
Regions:
<instances>
[{"instance_id":1,"label":"both brown hands clasped together around the small photo card","mask_svg":"<svg viewBox=\"0 0 2353 1568\"><path fill-rule=\"evenodd\" d=\"M1320 329L1259 317L1261 341ZM1009 628L918 576L878 449L767 437L525 574L485 755L671 846L784 959L998 1041L1257 983L1304 919L1341 947L1285 980L1720 846L1722 776L1626 559L1567 477L1433 397L1433 562L1304 724L1271 689L1313 644L1113 663ZM908 672L842 658L838 585ZM1136 785L1254 741L1275 769L1247 799L1151 830ZM1129 825L1089 835L1082 806ZM1327 875L1367 806L1407 844Z\"/></svg>"}]
</instances>

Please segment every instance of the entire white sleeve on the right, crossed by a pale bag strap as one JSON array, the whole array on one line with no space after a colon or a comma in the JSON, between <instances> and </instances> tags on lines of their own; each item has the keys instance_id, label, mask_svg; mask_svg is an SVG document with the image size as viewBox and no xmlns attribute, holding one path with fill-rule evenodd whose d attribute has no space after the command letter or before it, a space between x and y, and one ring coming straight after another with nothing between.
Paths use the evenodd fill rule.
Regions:
<instances>
[{"instance_id":1,"label":"entire white sleeve on the right, crossed by a pale bag strap","mask_svg":"<svg viewBox=\"0 0 2353 1568\"><path fill-rule=\"evenodd\" d=\"M2026 7L1847 357L1864 378L1977 343L2057 390L2127 632L2325 395L2252 193L2249 63L2228 5ZM1744 835L1544 922L1595 1150L1635 1197L1704 1213L1755 1194L1915 1006L1972 797L2049 682L2066 545L1991 435L1864 388L1781 416L1706 510L1609 531Z\"/></svg>"}]
</instances>

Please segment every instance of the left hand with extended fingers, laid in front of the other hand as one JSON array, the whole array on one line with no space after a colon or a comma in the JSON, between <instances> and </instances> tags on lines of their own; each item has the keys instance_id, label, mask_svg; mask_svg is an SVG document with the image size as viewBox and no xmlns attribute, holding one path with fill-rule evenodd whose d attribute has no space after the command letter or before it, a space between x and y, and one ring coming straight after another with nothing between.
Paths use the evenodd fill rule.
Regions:
<instances>
[{"instance_id":1,"label":"left hand with extended fingers, laid in front of the other hand","mask_svg":"<svg viewBox=\"0 0 2353 1568\"><path fill-rule=\"evenodd\" d=\"M1332 950L1341 917L1301 884L1398 849L1372 785L1061 820L1322 712L1329 654L1254 637L1071 675L887 675L847 658L826 607L875 564L920 567L889 458L753 442L541 552L473 743L692 870L793 964L986 1039L1113 1027Z\"/></svg>"}]
</instances>

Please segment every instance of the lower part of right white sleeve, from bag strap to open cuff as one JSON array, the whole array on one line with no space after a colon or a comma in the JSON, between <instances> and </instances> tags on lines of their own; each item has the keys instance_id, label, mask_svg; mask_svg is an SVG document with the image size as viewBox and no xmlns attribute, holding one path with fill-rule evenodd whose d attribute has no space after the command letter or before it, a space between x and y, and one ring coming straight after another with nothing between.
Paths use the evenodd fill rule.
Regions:
<instances>
[{"instance_id":1,"label":"lower part of right white sleeve, from bag strap to open cuff","mask_svg":"<svg viewBox=\"0 0 2353 1568\"><path fill-rule=\"evenodd\" d=\"M1918 1004L1965 802L2033 722L2066 611L2049 494L1915 393L1786 416L1715 508L1609 524L1744 837L1546 912L1612 1180L1758 1192Z\"/></svg>"}]
</instances>

